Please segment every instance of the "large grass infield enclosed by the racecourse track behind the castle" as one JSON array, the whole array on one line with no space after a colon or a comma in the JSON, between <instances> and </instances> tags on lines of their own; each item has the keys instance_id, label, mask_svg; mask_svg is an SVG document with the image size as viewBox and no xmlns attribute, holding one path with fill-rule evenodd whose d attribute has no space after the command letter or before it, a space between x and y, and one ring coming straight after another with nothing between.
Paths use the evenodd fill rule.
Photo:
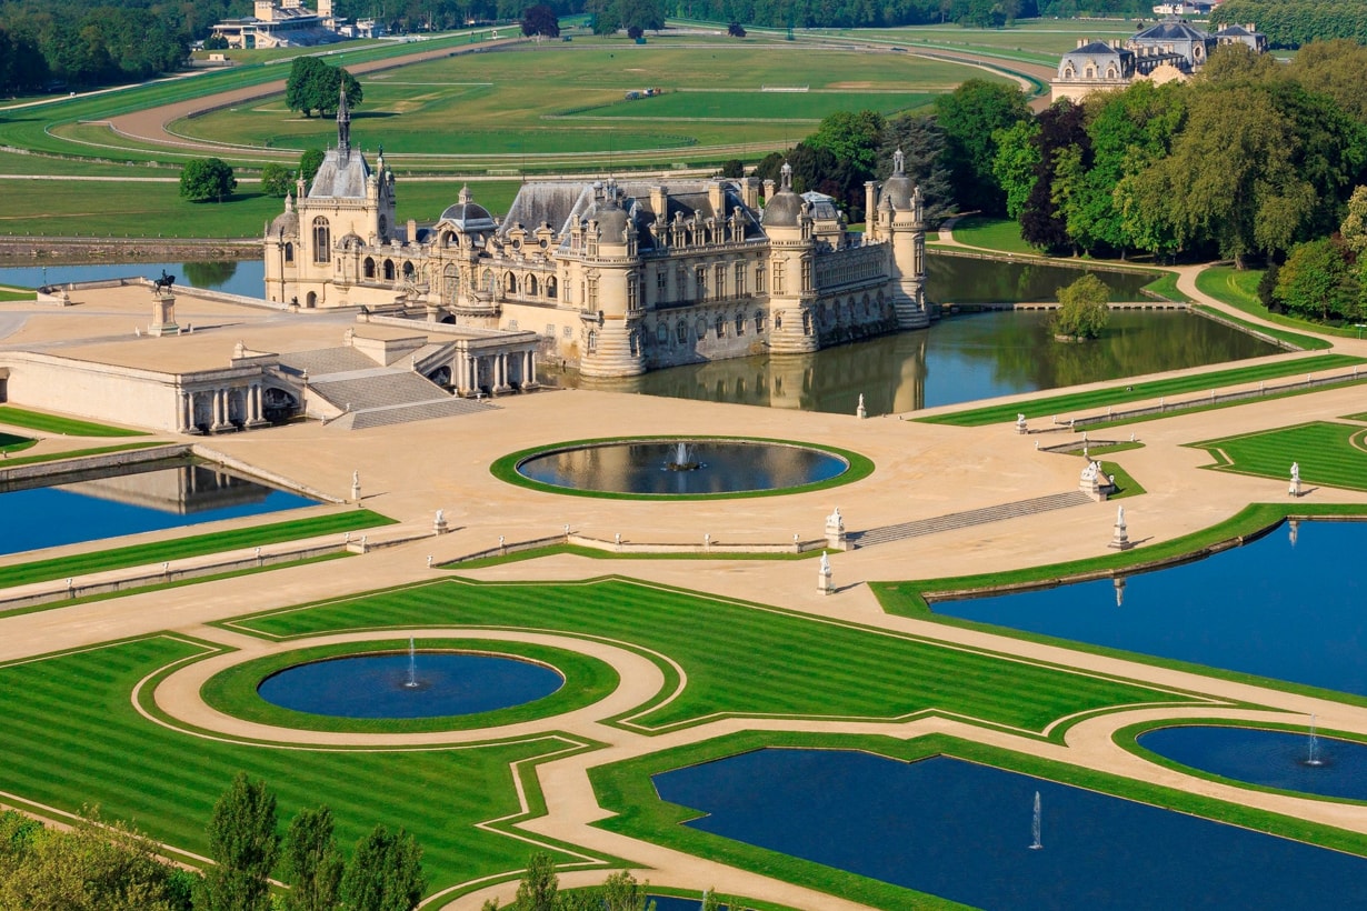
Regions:
<instances>
[{"instance_id":1,"label":"large grass infield enclosed by the racecourse track behind the castle","mask_svg":"<svg viewBox=\"0 0 1367 911\"><path fill-rule=\"evenodd\" d=\"M528 72L534 71L536 79ZM630 152L690 146L778 148L833 111L920 108L968 67L856 51L675 36L521 45L362 76L353 141L405 154L488 156ZM807 93L763 92L807 86ZM627 101L630 90L663 96ZM582 123L580 122L582 119ZM459 123L459 142L450 124ZM217 142L305 148L335 131L290 112L282 96L182 120L176 132ZM759 149L749 157L759 157Z\"/></svg>"}]
</instances>

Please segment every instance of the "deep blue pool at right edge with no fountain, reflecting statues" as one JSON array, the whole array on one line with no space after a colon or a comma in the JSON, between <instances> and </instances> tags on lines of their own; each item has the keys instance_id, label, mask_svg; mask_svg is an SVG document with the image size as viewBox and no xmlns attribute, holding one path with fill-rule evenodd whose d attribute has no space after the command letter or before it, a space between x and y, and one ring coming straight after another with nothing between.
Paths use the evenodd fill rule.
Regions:
<instances>
[{"instance_id":1,"label":"deep blue pool at right edge with no fountain, reflecting statues","mask_svg":"<svg viewBox=\"0 0 1367 911\"><path fill-rule=\"evenodd\" d=\"M1131 537L1143 535L1131 518ZM1295 533L1295 544L1292 542ZM1367 695L1367 523L1301 522L1126 579L931 605L942 613Z\"/></svg>"}]
</instances>

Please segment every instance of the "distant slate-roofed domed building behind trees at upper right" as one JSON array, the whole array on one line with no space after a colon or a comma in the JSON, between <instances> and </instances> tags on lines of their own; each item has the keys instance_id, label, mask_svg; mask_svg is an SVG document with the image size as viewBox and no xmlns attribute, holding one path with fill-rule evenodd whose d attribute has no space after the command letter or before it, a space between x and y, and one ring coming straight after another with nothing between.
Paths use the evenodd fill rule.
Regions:
<instances>
[{"instance_id":1,"label":"distant slate-roofed domed building behind trees at upper right","mask_svg":"<svg viewBox=\"0 0 1367 911\"><path fill-rule=\"evenodd\" d=\"M1125 41L1088 41L1058 61L1058 74L1050 83L1051 101L1081 101L1092 92L1124 89L1136 79L1158 85L1180 82L1206 66L1210 52L1226 44L1243 44L1255 53L1267 51L1267 36L1252 23L1225 26L1210 33L1185 19L1165 19L1137 31Z\"/></svg>"}]
</instances>

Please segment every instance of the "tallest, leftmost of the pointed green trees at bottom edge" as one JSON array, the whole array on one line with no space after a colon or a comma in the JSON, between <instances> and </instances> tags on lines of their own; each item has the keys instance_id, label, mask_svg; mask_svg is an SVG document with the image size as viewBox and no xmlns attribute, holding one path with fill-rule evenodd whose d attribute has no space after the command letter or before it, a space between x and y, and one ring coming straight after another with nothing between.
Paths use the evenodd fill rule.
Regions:
<instances>
[{"instance_id":1,"label":"tallest, leftmost of the pointed green trees at bottom edge","mask_svg":"<svg viewBox=\"0 0 1367 911\"><path fill-rule=\"evenodd\" d=\"M275 795L265 781L238 772L213 804L209 818L209 856L197 911L269 911L269 877L280 848Z\"/></svg>"}]
</instances>

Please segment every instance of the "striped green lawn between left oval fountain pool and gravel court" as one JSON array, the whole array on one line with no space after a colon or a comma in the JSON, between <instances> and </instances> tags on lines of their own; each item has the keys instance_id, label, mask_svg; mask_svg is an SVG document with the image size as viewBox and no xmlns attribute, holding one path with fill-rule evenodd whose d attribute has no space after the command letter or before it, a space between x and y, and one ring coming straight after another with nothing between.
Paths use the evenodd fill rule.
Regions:
<instances>
[{"instance_id":1,"label":"striped green lawn between left oval fountain pool and gravel court","mask_svg":"<svg viewBox=\"0 0 1367 911\"><path fill-rule=\"evenodd\" d=\"M293 636L462 623L625 641L679 662L688 686L668 705L633 718L647 728L692 724L716 713L887 718L935 709L1043 731L1077 712L1181 698L625 579L592 585L450 579L261 615L234 626Z\"/></svg>"}]
</instances>

